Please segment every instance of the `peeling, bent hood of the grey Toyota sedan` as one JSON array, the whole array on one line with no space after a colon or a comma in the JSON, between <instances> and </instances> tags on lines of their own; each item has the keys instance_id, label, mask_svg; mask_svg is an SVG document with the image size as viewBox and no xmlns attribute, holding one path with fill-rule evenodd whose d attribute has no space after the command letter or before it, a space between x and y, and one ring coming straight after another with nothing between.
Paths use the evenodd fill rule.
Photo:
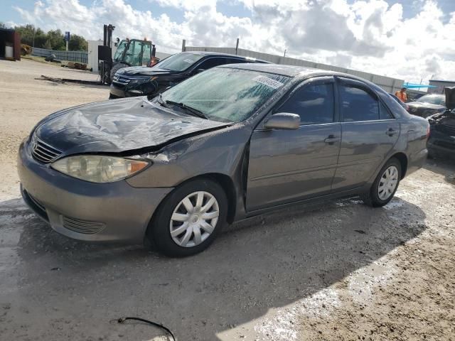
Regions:
<instances>
[{"instance_id":1,"label":"peeling, bent hood of the grey Toyota sedan","mask_svg":"<svg viewBox=\"0 0 455 341\"><path fill-rule=\"evenodd\" d=\"M156 149L176 139L228 125L171 111L146 97L133 97L57 112L41 121L34 134L65 156Z\"/></svg>"}]
</instances>

